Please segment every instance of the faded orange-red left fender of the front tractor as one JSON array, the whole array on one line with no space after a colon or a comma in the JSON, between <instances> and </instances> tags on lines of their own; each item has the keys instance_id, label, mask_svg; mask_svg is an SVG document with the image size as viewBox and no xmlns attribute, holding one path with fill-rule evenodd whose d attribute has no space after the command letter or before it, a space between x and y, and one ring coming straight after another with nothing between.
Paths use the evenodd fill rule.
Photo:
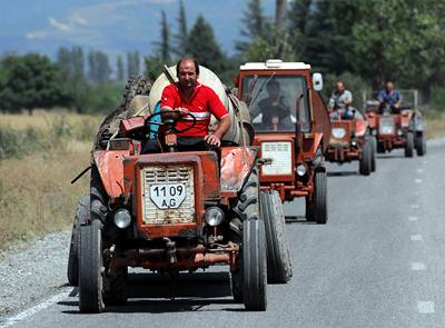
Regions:
<instances>
[{"instance_id":1,"label":"faded orange-red left fender of the front tractor","mask_svg":"<svg viewBox=\"0 0 445 328\"><path fill-rule=\"evenodd\" d=\"M123 193L123 158L128 150L98 150L92 157L103 188L111 199Z\"/></svg>"}]
</instances>

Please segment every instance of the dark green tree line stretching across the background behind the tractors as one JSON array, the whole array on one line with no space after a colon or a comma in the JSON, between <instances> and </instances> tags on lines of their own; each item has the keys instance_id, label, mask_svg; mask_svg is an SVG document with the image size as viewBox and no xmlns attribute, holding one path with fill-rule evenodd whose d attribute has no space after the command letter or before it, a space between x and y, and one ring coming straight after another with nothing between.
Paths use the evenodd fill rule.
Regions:
<instances>
[{"instance_id":1,"label":"dark green tree line stretching across the background behind the tractors","mask_svg":"<svg viewBox=\"0 0 445 328\"><path fill-rule=\"evenodd\" d=\"M399 88L419 89L425 101L442 107L445 0L276 0L275 9L275 14L266 13L261 0L245 4L231 56L204 16L189 27L182 0L176 31L161 11L159 39L148 56L129 52L126 60L118 56L113 66L107 53L85 53L81 47L60 48L55 62L34 53L6 56L0 63L0 109L109 111L120 101L125 79L142 72L154 80L164 64L186 54L227 85L240 63L280 58L310 63L325 73L328 89L343 79L358 97L359 89L376 89L392 79Z\"/></svg>"}]
</instances>

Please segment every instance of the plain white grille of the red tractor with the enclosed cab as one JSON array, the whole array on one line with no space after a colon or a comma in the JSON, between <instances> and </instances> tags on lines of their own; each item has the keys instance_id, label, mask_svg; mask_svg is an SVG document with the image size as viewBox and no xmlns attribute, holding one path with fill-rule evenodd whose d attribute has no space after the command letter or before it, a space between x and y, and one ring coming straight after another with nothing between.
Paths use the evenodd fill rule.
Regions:
<instances>
[{"instance_id":1,"label":"plain white grille of the red tractor with the enclosed cab","mask_svg":"<svg viewBox=\"0 0 445 328\"><path fill-rule=\"evenodd\" d=\"M265 176L288 176L293 173L291 142L263 142L261 157L271 163L261 166Z\"/></svg>"}]
</instances>

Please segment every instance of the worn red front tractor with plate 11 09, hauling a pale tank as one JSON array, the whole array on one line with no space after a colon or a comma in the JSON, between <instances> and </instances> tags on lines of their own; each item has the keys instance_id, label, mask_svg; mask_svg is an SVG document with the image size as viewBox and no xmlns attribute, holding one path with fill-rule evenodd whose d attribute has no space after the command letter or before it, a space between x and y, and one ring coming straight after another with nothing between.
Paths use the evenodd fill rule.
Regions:
<instances>
[{"instance_id":1,"label":"worn red front tractor with plate 11 09, hauling a pale tank","mask_svg":"<svg viewBox=\"0 0 445 328\"><path fill-rule=\"evenodd\" d=\"M200 81L215 85L216 76L200 70ZM175 277L227 265L234 298L248 310L266 309L267 278L286 282L291 276L281 203L259 190L258 149L249 146L240 102L218 89L233 118L219 155L177 152L179 118L159 119L150 108L174 78L166 69L151 88L144 79L130 81L130 106L110 115L97 136L90 195L77 211L68 266L81 312L123 304L129 267ZM149 135L164 142L161 153L140 153Z\"/></svg>"}]
</instances>

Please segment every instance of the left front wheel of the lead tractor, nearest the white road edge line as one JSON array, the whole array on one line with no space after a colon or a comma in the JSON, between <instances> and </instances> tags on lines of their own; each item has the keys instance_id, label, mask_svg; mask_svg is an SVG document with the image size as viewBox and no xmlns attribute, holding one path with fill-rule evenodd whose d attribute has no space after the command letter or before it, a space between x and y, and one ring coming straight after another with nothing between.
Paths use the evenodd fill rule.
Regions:
<instances>
[{"instance_id":1,"label":"left front wheel of the lead tractor, nearest the white road edge line","mask_svg":"<svg viewBox=\"0 0 445 328\"><path fill-rule=\"evenodd\" d=\"M83 314L103 310L102 232L99 220L80 227L79 309Z\"/></svg>"}]
</instances>

